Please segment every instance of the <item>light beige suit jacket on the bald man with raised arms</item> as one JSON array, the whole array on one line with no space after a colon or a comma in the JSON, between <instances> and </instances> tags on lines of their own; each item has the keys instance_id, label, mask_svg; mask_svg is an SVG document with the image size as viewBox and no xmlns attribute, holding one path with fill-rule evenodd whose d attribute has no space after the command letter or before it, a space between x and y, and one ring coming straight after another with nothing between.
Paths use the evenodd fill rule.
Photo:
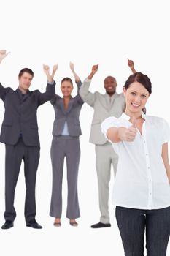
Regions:
<instances>
[{"instance_id":1,"label":"light beige suit jacket on the bald man with raised arms","mask_svg":"<svg viewBox=\"0 0 170 256\"><path fill-rule=\"evenodd\" d=\"M122 94L115 94L109 97L109 94L101 94L98 91L91 93L89 91L91 80L88 78L82 83L80 96L84 102L94 108L93 120L90 130L90 143L103 145L107 139L101 133L101 123L109 116L119 117L125 108L125 98Z\"/></svg>"}]
</instances>

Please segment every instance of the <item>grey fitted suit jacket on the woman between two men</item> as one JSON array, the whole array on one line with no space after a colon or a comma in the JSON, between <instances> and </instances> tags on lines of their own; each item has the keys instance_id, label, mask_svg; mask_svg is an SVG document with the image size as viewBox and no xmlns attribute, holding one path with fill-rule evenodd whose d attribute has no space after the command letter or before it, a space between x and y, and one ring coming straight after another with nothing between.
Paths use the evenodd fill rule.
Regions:
<instances>
[{"instance_id":1,"label":"grey fitted suit jacket on the woman between two men","mask_svg":"<svg viewBox=\"0 0 170 256\"><path fill-rule=\"evenodd\" d=\"M81 81L77 82L78 94L74 98L71 97L67 110L64 109L63 98L59 95L55 94L55 97L50 100L55 110L52 132L54 136L62 134L65 122L67 122L70 136L80 136L82 134L79 121L80 110L84 103L79 94L81 84Z\"/></svg>"}]
</instances>

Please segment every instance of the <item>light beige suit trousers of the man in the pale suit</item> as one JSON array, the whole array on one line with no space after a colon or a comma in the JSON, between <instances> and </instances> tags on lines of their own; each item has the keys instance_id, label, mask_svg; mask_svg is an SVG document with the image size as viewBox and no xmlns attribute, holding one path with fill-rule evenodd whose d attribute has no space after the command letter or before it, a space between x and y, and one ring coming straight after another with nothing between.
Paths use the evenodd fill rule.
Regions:
<instances>
[{"instance_id":1,"label":"light beige suit trousers of the man in the pale suit","mask_svg":"<svg viewBox=\"0 0 170 256\"><path fill-rule=\"evenodd\" d=\"M112 148L111 143L96 145L96 170L98 176L98 195L99 208L101 212L100 222L109 223L109 181L111 164L114 173L117 170L117 154Z\"/></svg>"}]
</instances>

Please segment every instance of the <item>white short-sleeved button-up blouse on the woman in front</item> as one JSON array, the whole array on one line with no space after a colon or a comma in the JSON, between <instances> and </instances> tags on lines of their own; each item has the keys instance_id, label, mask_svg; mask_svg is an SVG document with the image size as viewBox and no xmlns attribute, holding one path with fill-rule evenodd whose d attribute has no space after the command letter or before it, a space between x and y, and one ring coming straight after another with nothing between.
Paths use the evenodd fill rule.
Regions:
<instances>
[{"instance_id":1,"label":"white short-sleeved button-up blouse on the woman in front","mask_svg":"<svg viewBox=\"0 0 170 256\"><path fill-rule=\"evenodd\" d=\"M116 206L139 209L159 209L170 206L170 186L161 157L163 143L169 141L169 124L156 116L142 113L142 135L137 132L133 142L112 143L107 138L110 127L130 127L130 117L109 117L101 124L101 130L112 143L119 160L113 203Z\"/></svg>"}]
</instances>

